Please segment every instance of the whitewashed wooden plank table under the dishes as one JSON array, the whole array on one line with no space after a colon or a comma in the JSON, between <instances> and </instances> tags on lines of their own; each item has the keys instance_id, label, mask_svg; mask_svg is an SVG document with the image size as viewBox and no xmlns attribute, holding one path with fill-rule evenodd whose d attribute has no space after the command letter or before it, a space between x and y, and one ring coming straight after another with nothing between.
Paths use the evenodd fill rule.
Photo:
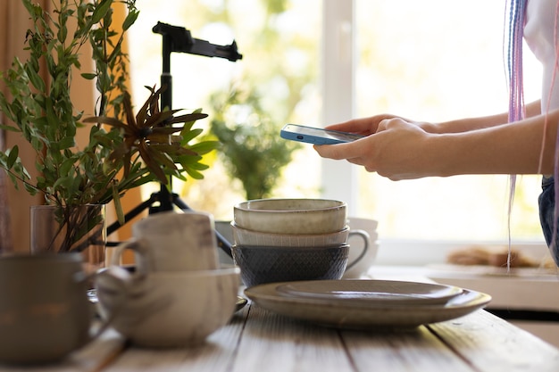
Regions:
<instances>
[{"instance_id":1,"label":"whitewashed wooden plank table under the dishes","mask_svg":"<svg viewBox=\"0 0 559 372\"><path fill-rule=\"evenodd\" d=\"M556 372L559 350L485 310L413 331L381 333L319 327L249 303L200 347L141 349L109 330L53 366L0 366L0 372L373 370Z\"/></svg>"}]
</instances>

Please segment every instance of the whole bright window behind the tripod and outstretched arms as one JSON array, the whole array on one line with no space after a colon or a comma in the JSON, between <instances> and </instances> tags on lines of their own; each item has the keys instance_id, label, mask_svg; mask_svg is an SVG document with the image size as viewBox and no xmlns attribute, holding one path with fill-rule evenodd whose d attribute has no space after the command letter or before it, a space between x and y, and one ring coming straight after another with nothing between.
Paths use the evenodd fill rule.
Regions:
<instances>
[{"instance_id":1,"label":"whole bright window behind the tripod and outstretched arms","mask_svg":"<svg viewBox=\"0 0 559 372\"><path fill-rule=\"evenodd\" d=\"M472 0L457 7L445 0L170 0L164 5L146 0L138 6L130 45L138 102L143 86L159 83L161 36L151 28L163 21L215 44L235 38L244 54L236 63L173 54L174 108L205 109L213 92L236 79L253 79L274 117L313 126L380 112L438 121L506 110L505 2ZM275 36L266 39L271 31ZM538 63L526 54L530 102L539 96L540 78ZM230 219L232 205L243 200L238 183L224 175L219 162L204 176L202 182L176 184L177 191L194 209ZM543 241L538 193L538 177L518 179L515 239ZM276 194L346 200L351 214L380 221L383 240L507 237L507 176L392 182L344 161L322 161L306 146L285 170Z\"/></svg>"}]
</instances>

